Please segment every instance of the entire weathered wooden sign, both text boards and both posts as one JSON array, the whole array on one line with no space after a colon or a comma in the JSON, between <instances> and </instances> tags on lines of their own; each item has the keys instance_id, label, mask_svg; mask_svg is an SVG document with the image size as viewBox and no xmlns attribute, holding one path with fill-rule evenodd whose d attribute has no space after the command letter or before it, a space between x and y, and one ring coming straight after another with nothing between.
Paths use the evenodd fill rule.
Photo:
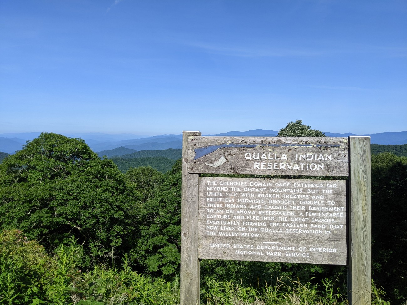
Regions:
<instances>
[{"instance_id":1,"label":"entire weathered wooden sign, both text boards and both posts","mask_svg":"<svg viewBox=\"0 0 407 305\"><path fill-rule=\"evenodd\" d=\"M347 176L349 190L338 179L202 173ZM350 303L370 304L370 211L369 137L201 137L184 131L181 304L200 302L203 258L347 264Z\"/></svg>"}]
</instances>

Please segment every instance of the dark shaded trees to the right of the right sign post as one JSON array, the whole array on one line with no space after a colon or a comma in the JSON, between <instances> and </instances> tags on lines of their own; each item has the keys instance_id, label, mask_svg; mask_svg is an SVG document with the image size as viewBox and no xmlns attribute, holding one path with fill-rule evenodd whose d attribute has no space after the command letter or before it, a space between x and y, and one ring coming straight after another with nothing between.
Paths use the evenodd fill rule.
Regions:
<instances>
[{"instance_id":1,"label":"dark shaded trees to the right of the right sign post","mask_svg":"<svg viewBox=\"0 0 407 305\"><path fill-rule=\"evenodd\" d=\"M407 157L372 155L373 278L393 300L407 298Z\"/></svg>"}]
</instances>

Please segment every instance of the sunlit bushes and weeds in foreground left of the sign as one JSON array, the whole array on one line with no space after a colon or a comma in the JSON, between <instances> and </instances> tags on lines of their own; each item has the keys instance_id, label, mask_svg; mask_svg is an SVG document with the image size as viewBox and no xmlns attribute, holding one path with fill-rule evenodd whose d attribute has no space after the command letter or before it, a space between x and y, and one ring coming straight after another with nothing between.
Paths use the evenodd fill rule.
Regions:
<instances>
[{"instance_id":1,"label":"sunlit bushes and weeds in foreground left of the sign","mask_svg":"<svg viewBox=\"0 0 407 305\"><path fill-rule=\"evenodd\" d=\"M179 304L177 281L152 281L131 270L94 265L80 270L71 240L48 255L18 230L0 234L0 304Z\"/></svg>"}]
</instances>

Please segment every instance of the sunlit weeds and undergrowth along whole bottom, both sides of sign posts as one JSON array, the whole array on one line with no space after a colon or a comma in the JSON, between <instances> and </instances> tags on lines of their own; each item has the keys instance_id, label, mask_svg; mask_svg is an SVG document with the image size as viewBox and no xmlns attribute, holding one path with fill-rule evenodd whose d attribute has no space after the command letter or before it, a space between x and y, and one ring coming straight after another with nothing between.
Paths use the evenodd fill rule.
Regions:
<instances>
[{"instance_id":1,"label":"sunlit weeds and undergrowth along whole bottom, both sides of sign posts","mask_svg":"<svg viewBox=\"0 0 407 305\"><path fill-rule=\"evenodd\" d=\"M81 270L74 240L53 255L19 230L0 233L0 304L9 305L177 305L179 279L150 279L132 270L127 257L120 268L94 265ZM372 304L387 304L383 290L372 284ZM235 281L204 279L201 304L339 305L346 304L329 280L302 284L280 277L263 287Z\"/></svg>"}]
</instances>

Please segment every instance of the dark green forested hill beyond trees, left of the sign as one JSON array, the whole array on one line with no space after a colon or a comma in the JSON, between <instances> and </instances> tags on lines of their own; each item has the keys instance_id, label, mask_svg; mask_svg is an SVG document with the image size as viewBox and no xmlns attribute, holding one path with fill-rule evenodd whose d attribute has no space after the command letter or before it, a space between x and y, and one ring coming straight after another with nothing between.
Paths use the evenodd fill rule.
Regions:
<instances>
[{"instance_id":1,"label":"dark green forested hill beyond trees, left of the sign","mask_svg":"<svg viewBox=\"0 0 407 305\"><path fill-rule=\"evenodd\" d=\"M122 173L127 172L129 168L135 168L140 166L150 166L155 168L159 172L165 173L171 169L175 160L164 157L145 157L145 158L122 158L113 157L112 161Z\"/></svg>"}]
</instances>

